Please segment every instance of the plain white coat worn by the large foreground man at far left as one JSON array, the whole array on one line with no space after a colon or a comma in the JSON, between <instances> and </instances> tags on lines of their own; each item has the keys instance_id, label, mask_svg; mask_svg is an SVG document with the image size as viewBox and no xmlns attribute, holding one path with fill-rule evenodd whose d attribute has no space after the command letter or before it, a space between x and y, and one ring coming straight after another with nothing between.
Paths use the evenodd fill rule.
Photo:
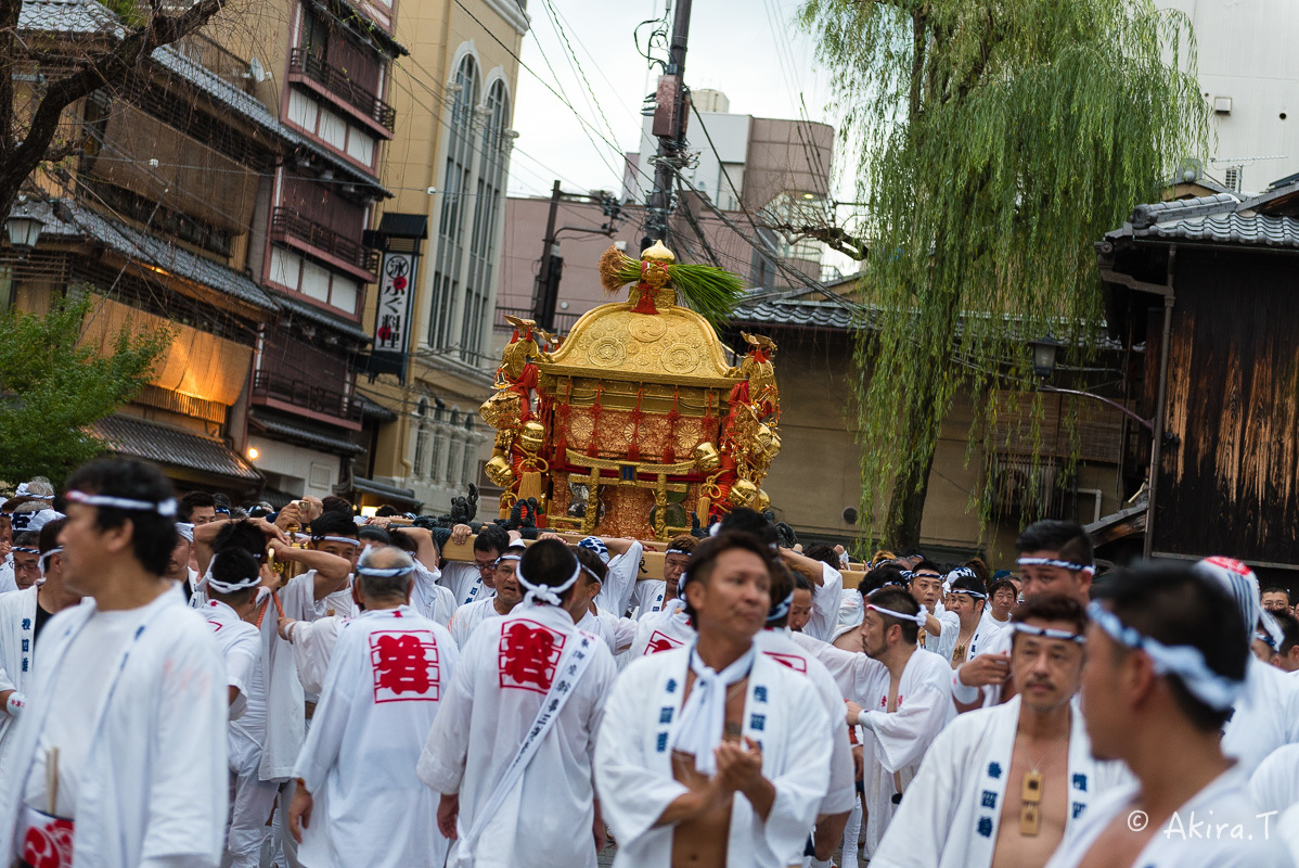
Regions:
<instances>
[{"instance_id":1,"label":"plain white coat worn by the large foreground man at far left","mask_svg":"<svg viewBox=\"0 0 1299 868\"><path fill-rule=\"evenodd\" d=\"M51 686L94 600L56 615L27 709L0 769L0 858L14 852ZM135 609L135 626L95 712L77 795L77 868L157 868L165 856L216 865L226 825L226 673L212 629L181 598ZM174 863L168 863L174 864Z\"/></svg>"}]
</instances>

